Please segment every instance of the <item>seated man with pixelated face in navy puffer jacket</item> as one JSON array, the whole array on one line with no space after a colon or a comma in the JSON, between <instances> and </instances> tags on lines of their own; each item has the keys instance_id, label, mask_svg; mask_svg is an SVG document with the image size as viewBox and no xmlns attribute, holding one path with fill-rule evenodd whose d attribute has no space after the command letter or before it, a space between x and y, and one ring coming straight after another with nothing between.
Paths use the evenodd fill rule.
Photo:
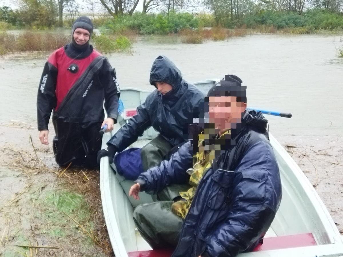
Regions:
<instances>
[{"instance_id":1,"label":"seated man with pixelated face in navy puffer jacket","mask_svg":"<svg viewBox=\"0 0 343 257\"><path fill-rule=\"evenodd\" d=\"M134 210L134 222L152 248L176 247L173 257L236 256L262 242L280 205L281 181L267 120L246 110L246 102L241 80L225 76L199 106L196 147L185 143L131 187L130 195L139 199L140 191L191 185L178 199Z\"/></svg>"}]
</instances>

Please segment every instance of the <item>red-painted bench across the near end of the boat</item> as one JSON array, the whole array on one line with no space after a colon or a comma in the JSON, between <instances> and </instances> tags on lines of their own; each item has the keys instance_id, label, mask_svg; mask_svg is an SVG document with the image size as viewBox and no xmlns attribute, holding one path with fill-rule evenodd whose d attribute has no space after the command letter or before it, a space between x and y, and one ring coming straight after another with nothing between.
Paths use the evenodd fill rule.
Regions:
<instances>
[{"instance_id":1,"label":"red-painted bench across the near end of the boat","mask_svg":"<svg viewBox=\"0 0 343 257\"><path fill-rule=\"evenodd\" d=\"M315 238L311 233L287 235L287 236L275 236L264 238L263 244L258 245L253 252L302 247L317 245ZM128 253L129 257L170 257L173 253L173 249L156 249L149 251L139 251Z\"/></svg>"}]
</instances>

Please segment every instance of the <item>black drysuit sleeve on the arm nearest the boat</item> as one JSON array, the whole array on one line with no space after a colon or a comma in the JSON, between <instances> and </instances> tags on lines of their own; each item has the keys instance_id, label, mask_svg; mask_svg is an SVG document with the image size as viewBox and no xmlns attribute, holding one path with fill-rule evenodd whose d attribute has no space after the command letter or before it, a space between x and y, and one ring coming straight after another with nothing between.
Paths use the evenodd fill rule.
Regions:
<instances>
[{"instance_id":1,"label":"black drysuit sleeve on the arm nearest the boat","mask_svg":"<svg viewBox=\"0 0 343 257\"><path fill-rule=\"evenodd\" d=\"M108 60L105 59L101 74L99 74L100 83L104 87L105 93L105 110L107 118L113 118L115 123L118 119L118 100L120 88L117 81L116 70L111 67Z\"/></svg>"}]
</instances>

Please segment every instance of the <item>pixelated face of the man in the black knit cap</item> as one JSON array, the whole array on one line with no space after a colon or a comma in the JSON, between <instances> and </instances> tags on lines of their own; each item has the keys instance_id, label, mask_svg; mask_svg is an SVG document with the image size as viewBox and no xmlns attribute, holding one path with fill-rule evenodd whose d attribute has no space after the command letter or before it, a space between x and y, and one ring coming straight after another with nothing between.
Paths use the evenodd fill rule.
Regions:
<instances>
[{"instance_id":1,"label":"pixelated face of the man in the black knit cap","mask_svg":"<svg viewBox=\"0 0 343 257\"><path fill-rule=\"evenodd\" d=\"M236 96L210 96L209 122L219 131L236 129L246 107L246 103L237 102Z\"/></svg>"}]
</instances>

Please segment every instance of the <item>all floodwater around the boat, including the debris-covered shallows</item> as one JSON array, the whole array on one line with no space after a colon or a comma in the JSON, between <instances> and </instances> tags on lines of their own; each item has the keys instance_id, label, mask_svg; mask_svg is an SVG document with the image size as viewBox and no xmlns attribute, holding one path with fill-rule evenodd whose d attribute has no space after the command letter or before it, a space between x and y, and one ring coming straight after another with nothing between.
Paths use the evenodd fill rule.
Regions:
<instances>
[{"instance_id":1,"label":"all floodwater around the boat, including the debris-covered shallows","mask_svg":"<svg viewBox=\"0 0 343 257\"><path fill-rule=\"evenodd\" d=\"M343 46L340 36L166 42L140 38L132 54L108 55L120 86L152 90L149 72L159 54L173 60L189 82L238 75L247 86L249 107L293 114L291 119L268 116L270 132L316 187L343 233L343 59L335 56ZM43 146L38 140L36 94L47 57L0 59L0 253L111 256L98 172L63 173L54 167L51 143ZM53 135L50 124L50 141ZM15 246L37 243L55 248Z\"/></svg>"}]
</instances>

